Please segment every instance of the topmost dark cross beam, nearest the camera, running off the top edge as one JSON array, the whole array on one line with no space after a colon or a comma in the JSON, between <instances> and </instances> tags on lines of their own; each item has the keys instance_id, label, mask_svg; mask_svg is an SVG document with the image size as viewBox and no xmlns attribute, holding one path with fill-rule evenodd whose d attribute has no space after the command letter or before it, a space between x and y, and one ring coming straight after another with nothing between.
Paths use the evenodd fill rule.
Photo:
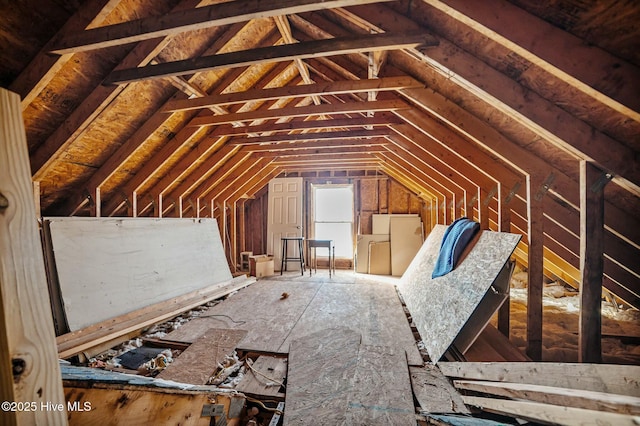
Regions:
<instances>
[{"instance_id":1,"label":"topmost dark cross beam, nearest the camera, running off the top edge","mask_svg":"<svg viewBox=\"0 0 640 426\"><path fill-rule=\"evenodd\" d=\"M332 7L350 6L389 0L242 0L174 11L163 16L137 19L70 34L51 47L57 54L78 53L92 49L177 35L185 31L246 22L255 18L310 12Z\"/></svg>"}]
</instances>

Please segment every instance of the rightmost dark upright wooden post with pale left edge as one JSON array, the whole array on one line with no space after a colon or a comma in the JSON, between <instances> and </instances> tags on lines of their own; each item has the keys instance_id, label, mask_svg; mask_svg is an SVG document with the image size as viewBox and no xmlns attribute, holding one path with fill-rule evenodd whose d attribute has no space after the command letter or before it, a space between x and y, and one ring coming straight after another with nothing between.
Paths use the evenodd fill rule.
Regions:
<instances>
[{"instance_id":1,"label":"rightmost dark upright wooden post with pale left edge","mask_svg":"<svg viewBox=\"0 0 640 426\"><path fill-rule=\"evenodd\" d=\"M593 163L580 162L580 334L578 361L602 362L604 186L611 179Z\"/></svg>"}]
</instances>

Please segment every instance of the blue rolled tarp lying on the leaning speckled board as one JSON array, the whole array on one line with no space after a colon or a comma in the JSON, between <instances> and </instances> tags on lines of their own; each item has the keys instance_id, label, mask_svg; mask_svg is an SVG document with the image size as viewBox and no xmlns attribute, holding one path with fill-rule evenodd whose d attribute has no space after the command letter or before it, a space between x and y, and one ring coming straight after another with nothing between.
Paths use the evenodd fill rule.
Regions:
<instances>
[{"instance_id":1,"label":"blue rolled tarp lying on the leaning speckled board","mask_svg":"<svg viewBox=\"0 0 640 426\"><path fill-rule=\"evenodd\" d=\"M456 219L447 227L442 237L440 253L431 273L431 278L441 277L453 271L465 247L479 229L480 224L478 222L466 217Z\"/></svg>"}]
</instances>

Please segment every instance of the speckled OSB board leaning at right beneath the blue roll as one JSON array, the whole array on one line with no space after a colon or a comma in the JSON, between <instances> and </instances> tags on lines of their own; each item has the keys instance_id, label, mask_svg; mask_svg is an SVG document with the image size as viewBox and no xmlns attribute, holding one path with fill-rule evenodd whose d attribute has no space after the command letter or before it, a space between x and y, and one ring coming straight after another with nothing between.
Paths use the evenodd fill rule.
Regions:
<instances>
[{"instance_id":1,"label":"speckled OSB board leaning at right beneath the blue roll","mask_svg":"<svg viewBox=\"0 0 640 426\"><path fill-rule=\"evenodd\" d=\"M453 271L432 279L446 229L433 228L398 285L432 362L449 348L520 241L520 235L482 231Z\"/></svg>"}]
</instances>

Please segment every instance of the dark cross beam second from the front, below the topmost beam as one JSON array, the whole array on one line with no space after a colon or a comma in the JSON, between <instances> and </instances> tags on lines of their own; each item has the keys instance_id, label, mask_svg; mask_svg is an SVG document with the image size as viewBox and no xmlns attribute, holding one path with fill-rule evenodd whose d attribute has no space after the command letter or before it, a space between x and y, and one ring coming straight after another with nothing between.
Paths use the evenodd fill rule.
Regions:
<instances>
[{"instance_id":1,"label":"dark cross beam second from the front, below the topmost beam","mask_svg":"<svg viewBox=\"0 0 640 426\"><path fill-rule=\"evenodd\" d=\"M201 56L182 61L147 65L143 68L120 69L113 71L104 80L104 84L126 84L140 80L194 74L201 71L234 68L265 62L292 61L296 58L346 55L363 50L394 50L416 46L435 46L437 44L438 41L425 30L414 33L353 35L344 38L314 40L297 44Z\"/></svg>"}]
</instances>

